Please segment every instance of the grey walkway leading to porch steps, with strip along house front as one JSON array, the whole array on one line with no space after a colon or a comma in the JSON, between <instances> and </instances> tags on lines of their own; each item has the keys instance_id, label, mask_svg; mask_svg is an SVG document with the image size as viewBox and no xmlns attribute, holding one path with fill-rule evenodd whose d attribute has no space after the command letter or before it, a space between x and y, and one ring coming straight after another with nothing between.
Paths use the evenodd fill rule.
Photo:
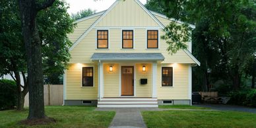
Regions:
<instances>
[{"instance_id":1,"label":"grey walkway leading to porch steps, with strip along house front","mask_svg":"<svg viewBox=\"0 0 256 128\"><path fill-rule=\"evenodd\" d=\"M96 108L96 111L115 111L110 128L146 127L141 111L218 111L218 110L190 110L190 109L162 109L162 108Z\"/></svg>"}]
</instances>

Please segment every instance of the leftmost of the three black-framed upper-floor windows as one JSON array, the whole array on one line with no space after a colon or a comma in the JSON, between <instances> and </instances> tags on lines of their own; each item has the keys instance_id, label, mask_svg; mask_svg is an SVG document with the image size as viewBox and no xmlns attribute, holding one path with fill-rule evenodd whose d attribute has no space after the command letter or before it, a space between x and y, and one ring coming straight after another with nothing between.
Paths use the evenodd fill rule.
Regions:
<instances>
[{"instance_id":1,"label":"leftmost of the three black-framed upper-floor windows","mask_svg":"<svg viewBox=\"0 0 256 128\"><path fill-rule=\"evenodd\" d=\"M97 48L108 48L108 30L97 31Z\"/></svg>"}]
</instances>

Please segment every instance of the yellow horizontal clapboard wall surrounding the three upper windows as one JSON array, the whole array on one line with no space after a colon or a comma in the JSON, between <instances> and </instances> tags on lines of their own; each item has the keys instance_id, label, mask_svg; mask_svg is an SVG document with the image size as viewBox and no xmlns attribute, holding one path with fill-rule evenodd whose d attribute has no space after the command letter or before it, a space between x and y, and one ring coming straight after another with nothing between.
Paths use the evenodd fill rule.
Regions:
<instances>
[{"instance_id":1,"label":"yellow horizontal clapboard wall surrounding the three upper windows","mask_svg":"<svg viewBox=\"0 0 256 128\"><path fill-rule=\"evenodd\" d=\"M146 28L135 28L134 30L134 48L122 49L121 28L110 28L109 30L109 49L96 49L96 29L92 29L88 35L75 48L70 51L71 59L69 63L93 63L90 57L93 53L112 52L112 53L162 53L165 59L162 63L195 63L191 57L183 50L177 53L170 54L166 49L168 44L165 40L159 37L158 49L146 48ZM159 29L159 35L164 35L164 32Z\"/></svg>"}]
</instances>

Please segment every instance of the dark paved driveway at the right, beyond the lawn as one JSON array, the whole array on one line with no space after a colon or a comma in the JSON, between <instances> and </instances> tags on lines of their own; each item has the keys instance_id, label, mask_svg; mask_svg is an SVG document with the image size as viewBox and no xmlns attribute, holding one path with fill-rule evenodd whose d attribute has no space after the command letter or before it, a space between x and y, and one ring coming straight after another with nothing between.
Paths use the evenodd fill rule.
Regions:
<instances>
[{"instance_id":1,"label":"dark paved driveway at the right, beyond the lawn","mask_svg":"<svg viewBox=\"0 0 256 128\"><path fill-rule=\"evenodd\" d=\"M230 105L223 105L223 104L199 104L195 106L211 108L212 110L220 110L220 111L239 111L239 112L256 113L256 108L249 108L245 106L230 106Z\"/></svg>"}]
</instances>

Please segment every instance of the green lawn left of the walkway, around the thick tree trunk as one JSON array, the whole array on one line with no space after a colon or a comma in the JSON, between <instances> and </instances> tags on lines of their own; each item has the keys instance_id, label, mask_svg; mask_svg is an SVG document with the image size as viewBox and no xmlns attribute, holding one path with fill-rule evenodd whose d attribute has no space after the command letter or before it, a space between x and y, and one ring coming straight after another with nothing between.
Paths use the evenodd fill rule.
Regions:
<instances>
[{"instance_id":1,"label":"green lawn left of the walkway, around the thick tree trunk","mask_svg":"<svg viewBox=\"0 0 256 128\"><path fill-rule=\"evenodd\" d=\"M94 109L95 107L85 106L46 106L46 115L53 117L57 122L33 127L108 127L115 112L98 112ZM24 112L0 112L0 127L28 127L17 124L27 116L28 109Z\"/></svg>"}]
</instances>

